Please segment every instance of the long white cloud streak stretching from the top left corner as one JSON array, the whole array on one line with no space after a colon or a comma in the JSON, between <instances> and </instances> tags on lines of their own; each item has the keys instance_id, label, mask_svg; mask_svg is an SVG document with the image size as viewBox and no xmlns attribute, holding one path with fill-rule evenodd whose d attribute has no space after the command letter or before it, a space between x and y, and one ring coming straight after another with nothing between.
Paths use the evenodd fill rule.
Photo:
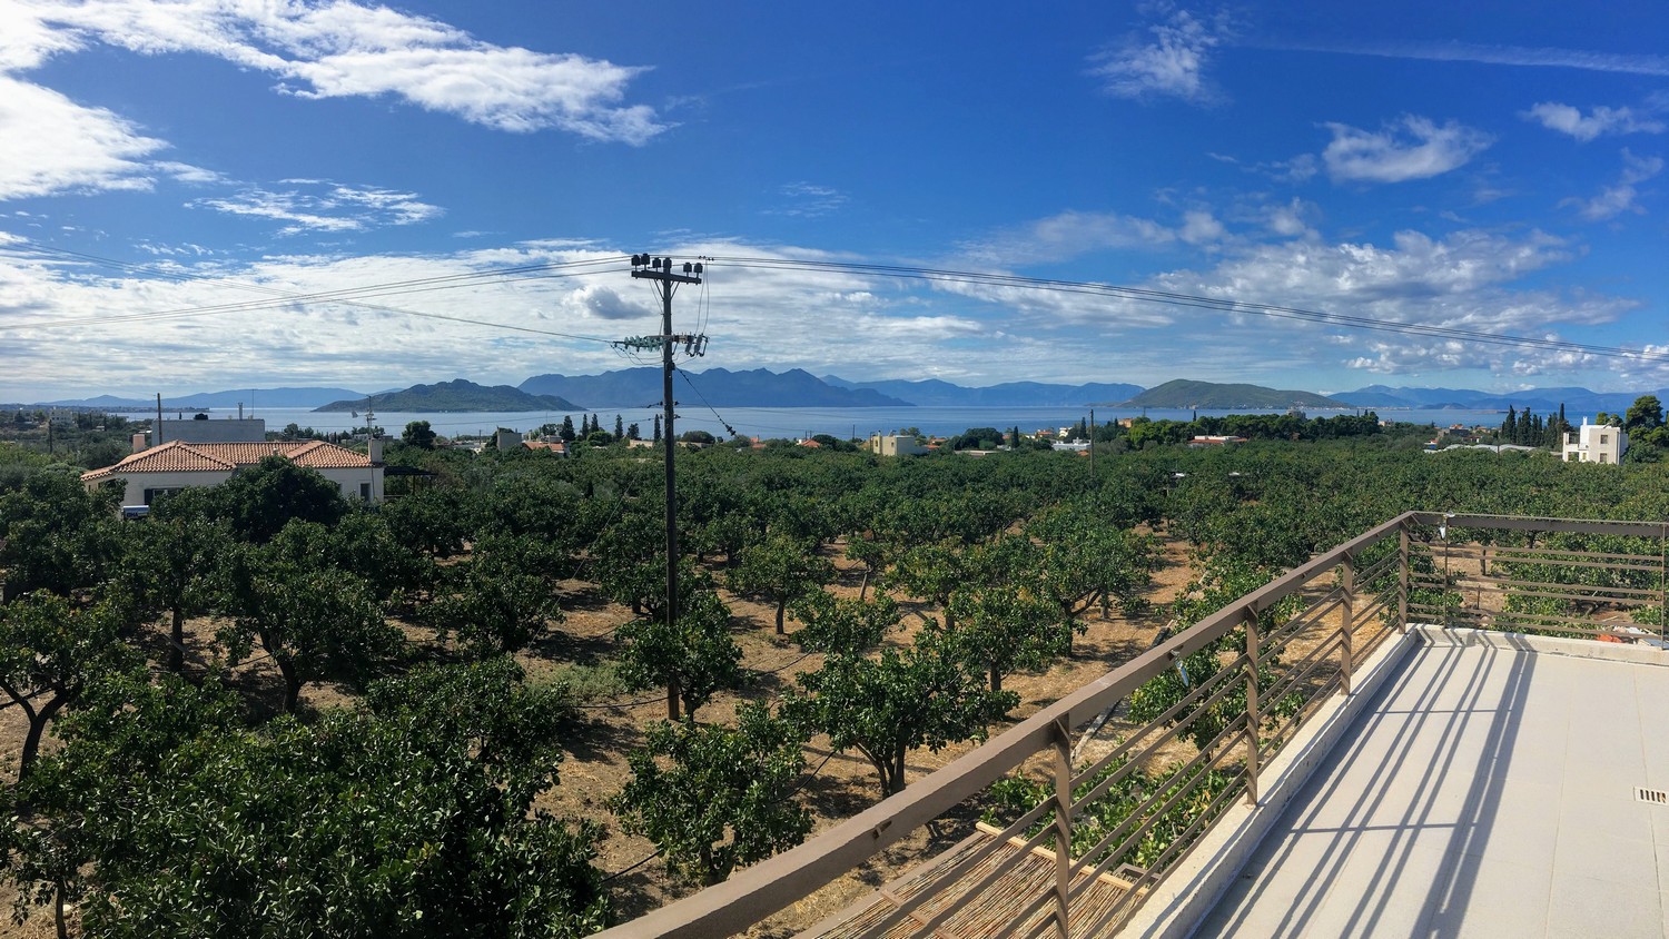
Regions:
<instances>
[{"instance_id":1,"label":"long white cloud streak stretching from the top left corner","mask_svg":"<svg viewBox=\"0 0 1669 939\"><path fill-rule=\"evenodd\" d=\"M626 143L644 143L664 130L649 107L623 103L639 67L499 47L389 7L345 0L47 0L22 12L15 17L22 20L18 32L0 45L0 63L13 68L103 42L145 55L214 55L274 75L279 90L297 97L394 95L497 130L561 128Z\"/></svg>"}]
</instances>

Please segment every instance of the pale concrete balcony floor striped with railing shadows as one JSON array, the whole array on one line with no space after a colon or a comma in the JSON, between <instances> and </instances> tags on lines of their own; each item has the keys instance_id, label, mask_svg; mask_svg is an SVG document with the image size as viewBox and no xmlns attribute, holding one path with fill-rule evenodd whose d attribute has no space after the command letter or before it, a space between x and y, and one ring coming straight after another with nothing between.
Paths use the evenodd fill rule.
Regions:
<instances>
[{"instance_id":1,"label":"pale concrete balcony floor striped with railing shadows","mask_svg":"<svg viewBox=\"0 0 1669 939\"><path fill-rule=\"evenodd\" d=\"M1669 667L1429 645L1195 936L1669 936Z\"/></svg>"}]
</instances>

